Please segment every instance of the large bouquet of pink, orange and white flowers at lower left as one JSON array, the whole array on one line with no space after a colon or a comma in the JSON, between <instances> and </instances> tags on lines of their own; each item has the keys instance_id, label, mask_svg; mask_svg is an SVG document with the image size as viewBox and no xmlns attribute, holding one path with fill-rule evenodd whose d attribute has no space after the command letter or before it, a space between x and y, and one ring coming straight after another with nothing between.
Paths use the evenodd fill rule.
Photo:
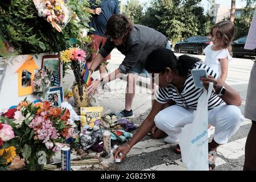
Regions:
<instances>
[{"instance_id":1,"label":"large bouquet of pink, orange and white flowers at lower left","mask_svg":"<svg viewBox=\"0 0 256 182\"><path fill-rule=\"evenodd\" d=\"M3 113L0 122L13 128L15 138L9 142L33 169L32 164L49 162L64 140L72 137L69 116L68 109L53 107L47 101L33 104L25 99L15 109Z\"/></svg>"}]
</instances>

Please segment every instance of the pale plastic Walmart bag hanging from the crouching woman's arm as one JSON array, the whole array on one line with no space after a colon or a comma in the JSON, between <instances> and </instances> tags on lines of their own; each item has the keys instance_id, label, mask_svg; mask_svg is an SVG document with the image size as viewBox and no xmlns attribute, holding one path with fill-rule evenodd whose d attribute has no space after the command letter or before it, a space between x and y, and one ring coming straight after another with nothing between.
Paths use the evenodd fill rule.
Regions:
<instances>
[{"instance_id":1,"label":"pale plastic Walmart bag hanging from the crouching woman's arm","mask_svg":"<svg viewBox=\"0 0 256 182\"><path fill-rule=\"evenodd\" d=\"M183 127L180 137L182 162L190 171L209 171L208 163L208 100L213 83L199 97L193 122Z\"/></svg>"}]
</instances>

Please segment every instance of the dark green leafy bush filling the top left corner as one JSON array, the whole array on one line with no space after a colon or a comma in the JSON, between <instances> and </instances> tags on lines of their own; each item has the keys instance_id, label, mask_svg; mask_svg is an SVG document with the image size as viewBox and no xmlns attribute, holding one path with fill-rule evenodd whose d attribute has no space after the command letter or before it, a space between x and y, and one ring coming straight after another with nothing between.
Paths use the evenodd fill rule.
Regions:
<instances>
[{"instance_id":1,"label":"dark green leafy bush filling the top left corner","mask_svg":"<svg viewBox=\"0 0 256 182\"><path fill-rule=\"evenodd\" d=\"M82 28L89 30L90 14L85 11L88 1L68 1L68 7L72 18L62 32L57 32L38 16L32 0L1 0L0 36L13 44L20 55L63 51L67 40L79 38Z\"/></svg>"}]
</instances>

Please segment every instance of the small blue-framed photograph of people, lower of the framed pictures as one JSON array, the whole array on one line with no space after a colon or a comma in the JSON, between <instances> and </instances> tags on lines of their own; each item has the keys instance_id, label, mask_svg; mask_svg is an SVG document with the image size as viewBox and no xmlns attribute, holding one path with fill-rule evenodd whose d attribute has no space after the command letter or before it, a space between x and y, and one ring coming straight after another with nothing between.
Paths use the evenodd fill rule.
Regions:
<instances>
[{"instance_id":1,"label":"small blue-framed photograph of people, lower of the framed pictures","mask_svg":"<svg viewBox=\"0 0 256 182\"><path fill-rule=\"evenodd\" d=\"M63 87L53 87L50 88L47 94L47 101L55 107L59 107L61 102L63 102Z\"/></svg>"}]
</instances>

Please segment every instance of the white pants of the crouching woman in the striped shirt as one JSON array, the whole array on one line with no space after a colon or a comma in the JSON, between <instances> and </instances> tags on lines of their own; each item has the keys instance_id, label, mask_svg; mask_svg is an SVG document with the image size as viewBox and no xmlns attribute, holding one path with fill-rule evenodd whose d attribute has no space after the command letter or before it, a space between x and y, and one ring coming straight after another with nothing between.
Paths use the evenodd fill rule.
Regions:
<instances>
[{"instance_id":1,"label":"white pants of the crouching woman in the striped shirt","mask_svg":"<svg viewBox=\"0 0 256 182\"><path fill-rule=\"evenodd\" d=\"M193 111L177 105L167 107L155 116L155 125L171 138L179 138L181 128L193 122ZM208 122L215 127L213 138L218 144L227 143L243 121L240 109L234 105L222 104L208 111Z\"/></svg>"}]
</instances>

